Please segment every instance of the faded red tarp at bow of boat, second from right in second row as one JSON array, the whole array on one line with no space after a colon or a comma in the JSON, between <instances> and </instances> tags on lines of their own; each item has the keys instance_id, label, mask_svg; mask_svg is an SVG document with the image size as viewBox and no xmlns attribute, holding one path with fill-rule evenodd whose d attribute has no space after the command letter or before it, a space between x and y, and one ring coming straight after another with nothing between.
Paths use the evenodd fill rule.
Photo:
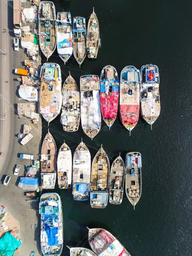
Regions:
<instances>
[{"instance_id":1,"label":"faded red tarp at bow of boat, second from right in second row","mask_svg":"<svg viewBox=\"0 0 192 256\"><path fill-rule=\"evenodd\" d=\"M132 113L133 116L131 116ZM120 115L122 123L137 123L139 119L139 105L120 105Z\"/></svg>"}]
</instances>

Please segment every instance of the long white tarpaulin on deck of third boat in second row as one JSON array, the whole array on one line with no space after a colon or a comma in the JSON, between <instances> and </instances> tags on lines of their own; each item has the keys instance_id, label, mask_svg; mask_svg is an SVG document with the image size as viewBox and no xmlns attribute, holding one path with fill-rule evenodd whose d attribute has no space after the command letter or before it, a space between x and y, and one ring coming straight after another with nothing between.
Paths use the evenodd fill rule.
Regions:
<instances>
[{"instance_id":1,"label":"long white tarpaulin on deck of third boat in second row","mask_svg":"<svg viewBox=\"0 0 192 256\"><path fill-rule=\"evenodd\" d=\"M87 91L81 91L81 124L88 129L101 126L101 108L99 90L93 90L93 97L86 97Z\"/></svg>"}]
</instances>

